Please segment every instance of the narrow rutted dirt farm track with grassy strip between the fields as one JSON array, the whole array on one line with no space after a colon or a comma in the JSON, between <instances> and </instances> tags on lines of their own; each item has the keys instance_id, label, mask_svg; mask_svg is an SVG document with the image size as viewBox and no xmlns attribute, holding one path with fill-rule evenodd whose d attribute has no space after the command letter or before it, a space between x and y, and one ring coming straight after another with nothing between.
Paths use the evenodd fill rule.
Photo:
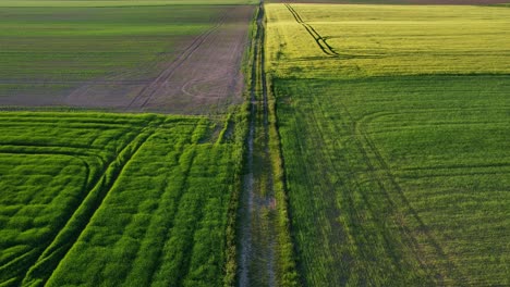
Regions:
<instances>
[{"instance_id":1,"label":"narrow rutted dirt farm track with grassy strip between the fields","mask_svg":"<svg viewBox=\"0 0 510 287\"><path fill-rule=\"evenodd\" d=\"M241 219L239 286L277 286L277 219L270 162L268 87L264 54L264 3L256 18L251 80L247 173Z\"/></svg>"}]
</instances>

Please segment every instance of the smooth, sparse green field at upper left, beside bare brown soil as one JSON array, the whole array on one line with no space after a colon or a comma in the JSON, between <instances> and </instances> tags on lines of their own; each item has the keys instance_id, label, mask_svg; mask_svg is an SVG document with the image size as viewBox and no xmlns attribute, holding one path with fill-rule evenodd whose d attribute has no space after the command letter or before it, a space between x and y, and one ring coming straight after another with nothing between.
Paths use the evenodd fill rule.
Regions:
<instances>
[{"instance_id":1,"label":"smooth, sparse green field at upper left, beside bare brown soil","mask_svg":"<svg viewBox=\"0 0 510 287\"><path fill-rule=\"evenodd\" d=\"M149 80L222 11L219 5L2 8L0 101L32 96L37 105L90 80Z\"/></svg>"}]
</instances>

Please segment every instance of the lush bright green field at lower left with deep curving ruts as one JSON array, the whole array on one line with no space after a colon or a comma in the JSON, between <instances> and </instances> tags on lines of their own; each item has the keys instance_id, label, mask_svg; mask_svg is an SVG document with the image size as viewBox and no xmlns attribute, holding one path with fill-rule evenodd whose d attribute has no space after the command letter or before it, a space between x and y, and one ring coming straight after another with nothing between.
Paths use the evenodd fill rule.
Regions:
<instances>
[{"instance_id":1,"label":"lush bright green field at lower left with deep curving ruts","mask_svg":"<svg viewBox=\"0 0 510 287\"><path fill-rule=\"evenodd\" d=\"M2 286L221 285L233 118L2 112Z\"/></svg>"}]
</instances>

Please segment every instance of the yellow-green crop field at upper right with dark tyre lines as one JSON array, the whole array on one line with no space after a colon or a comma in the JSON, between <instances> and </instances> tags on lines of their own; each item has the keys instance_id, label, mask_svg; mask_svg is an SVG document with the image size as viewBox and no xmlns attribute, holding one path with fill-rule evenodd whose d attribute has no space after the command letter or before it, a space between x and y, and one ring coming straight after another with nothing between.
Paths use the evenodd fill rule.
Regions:
<instances>
[{"instance_id":1,"label":"yellow-green crop field at upper right with dark tyre lines","mask_svg":"<svg viewBox=\"0 0 510 287\"><path fill-rule=\"evenodd\" d=\"M510 10L292 4L336 50L324 57L288 8L267 4L272 70L314 77L510 72Z\"/></svg>"}]
</instances>

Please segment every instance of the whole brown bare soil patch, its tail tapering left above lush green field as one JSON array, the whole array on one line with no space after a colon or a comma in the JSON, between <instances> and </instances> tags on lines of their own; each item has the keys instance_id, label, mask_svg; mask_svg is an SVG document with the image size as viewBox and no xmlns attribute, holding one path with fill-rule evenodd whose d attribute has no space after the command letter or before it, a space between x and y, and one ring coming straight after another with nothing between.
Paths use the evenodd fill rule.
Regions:
<instances>
[{"instance_id":1,"label":"whole brown bare soil patch, its tail tapering left above lush green field","mask_svg":"<svg viewBox=\"0 0 510 287\"><path fill-rule=\"evenodd\" d=\"M72 91L65 104L127 111L210 113L242 101L241 60L247 42L253 7L229 7L210 29L187 47L161 73L146 83L96 80Z\"/></svg>"}]
</instances>

